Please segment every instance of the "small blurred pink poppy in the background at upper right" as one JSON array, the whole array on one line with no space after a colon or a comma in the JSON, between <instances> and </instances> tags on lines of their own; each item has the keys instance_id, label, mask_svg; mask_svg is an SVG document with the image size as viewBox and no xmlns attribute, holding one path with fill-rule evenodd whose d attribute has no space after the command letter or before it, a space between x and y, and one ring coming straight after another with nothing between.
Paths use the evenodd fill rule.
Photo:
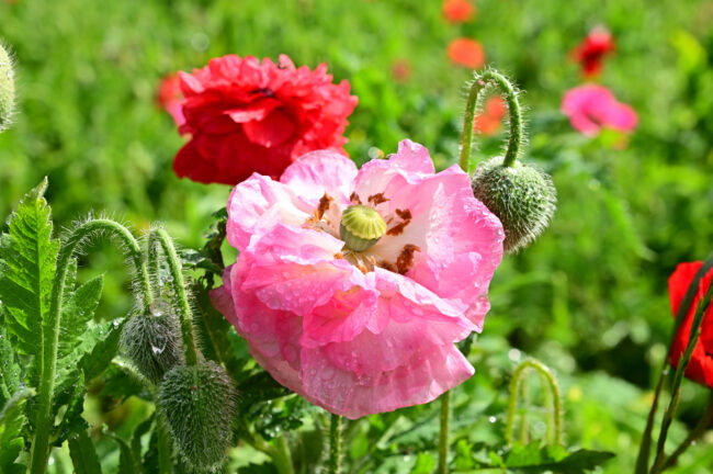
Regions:
<instances>
[{"instance_id":1,"label":"small blurred pink poppy in the background at upper right","mask_svg":"<svg viewBox=\"0 0 713 474\"><path fill-rule=\"evenodd\" d=\"M561 110L571 126L586 136L597 136L601 128L630 133L638 123L631 105L619 102L609 89L593 83L569 89Z\"/></svg>"}]
</instances>

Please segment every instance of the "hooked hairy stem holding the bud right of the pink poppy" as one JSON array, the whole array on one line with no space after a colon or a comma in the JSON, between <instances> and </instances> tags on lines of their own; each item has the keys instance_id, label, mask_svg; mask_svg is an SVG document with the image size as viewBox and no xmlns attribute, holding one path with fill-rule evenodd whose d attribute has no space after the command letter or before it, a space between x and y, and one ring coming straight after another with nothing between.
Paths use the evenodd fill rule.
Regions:
<instances>
[{"instance_id":1,"label":"hooked hairy stem holding the bud right of the pink poppy","mask_svg":"<svg viewBox=\"0 0 713 474\"><path fill-rule=\"evenodd\" d=\"M512 87L512 83L495 69L488 69L484 72L476 74L468 91L467 102L465 104L465 117L463 121L463 135L461 137L461 168L468 174L472 173L471 169L471 148L473 146L473 127L475 125L475 112L478 104L480 92L488 83L495 83L503 93L508 102L509 122L510 122L510 136L508 139L508 148L502 161L503 166L513 166L514 160L520 155L520 146L522 144L522 109L518 101L518 93Z\"/></svg>"}]
</instances>

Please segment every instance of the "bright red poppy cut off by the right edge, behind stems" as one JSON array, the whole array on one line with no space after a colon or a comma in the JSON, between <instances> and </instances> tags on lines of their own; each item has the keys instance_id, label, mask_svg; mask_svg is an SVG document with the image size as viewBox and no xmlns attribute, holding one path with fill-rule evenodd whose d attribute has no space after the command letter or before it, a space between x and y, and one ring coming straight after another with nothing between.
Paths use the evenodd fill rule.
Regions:
<instances>
[{"instance_id":1,"label":"bright red poppy cut off by the right edge, behind stems","mask_svg":"<svg viewBox=\"0 0 713 474\"><path fill-rule=\"evenodd\" d=\"M668 293L671 298L671 309L674 317L678 313L678 308L683 301L683 296L688 291L691 281L695 273L701 269L703 262L681 263L676 268L676 271L668 280ZM699 283L698 292L691 306L686 313L686 318L681 323L678 334L674 339L674 347L671 348L671 364L678 366L678 361L681 354L686 351L686 346L691 334L691 323L695 314L695 308L699 302L705 295L708 287L713 280L713 270L709 271ZM686 368L686 376L702 385L708 385L713 388L713 306L709 307L703 315L703 323L701 324L701 336L693 349L691 361Z\"/></svg>"}]
</instances>

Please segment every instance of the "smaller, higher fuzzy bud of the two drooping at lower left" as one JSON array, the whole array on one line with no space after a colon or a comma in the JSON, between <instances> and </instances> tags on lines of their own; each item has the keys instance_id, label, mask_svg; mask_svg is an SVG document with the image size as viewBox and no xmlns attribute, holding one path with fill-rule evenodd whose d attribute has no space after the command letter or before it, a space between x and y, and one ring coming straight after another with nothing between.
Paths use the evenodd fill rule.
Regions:
<instances>
[{"instance_id":1,"label":"smaller, higher fuzzy bud of the two drooping at lower left","mask_svg":"<svg viewBox=\"0 0 713 474\"><path fill-rule=\"evenodd\" d=\"M120 338L122 352L154 383L174 365L185 363L181 343L179 319L163 302L132 317Z\"/></svg>"}]
</instances>

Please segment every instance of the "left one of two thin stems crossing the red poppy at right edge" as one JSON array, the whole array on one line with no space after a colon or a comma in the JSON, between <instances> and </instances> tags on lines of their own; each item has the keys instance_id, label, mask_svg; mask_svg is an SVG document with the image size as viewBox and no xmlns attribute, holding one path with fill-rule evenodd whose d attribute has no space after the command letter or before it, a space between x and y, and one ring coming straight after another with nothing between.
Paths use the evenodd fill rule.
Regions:
<instances>
[{"instance_id":1,"label":"left one of two thin stems crossing the red poppy at right edge","mask_svg":"<svg viewBox=\"0 0 713 474\"><path fill-rule=\"evenodd\" d=\"M678 312L676 313L676 320L674 321L674 336L678 334L678 329L680 328L681 324L683 324L683 320L686 319L686 315L688 314L688 311L691 307L691 304L693 303L695 295L698 294L699 283L701 279L709 272L709 270L711 270L711 268L713 268L713 255L709 256L705 262L703 262L703 266L695 273L693 280L691 280L691 283L688 286L688 290L686 291L686 295L683 296L683 300L681 301L681 304L678 307ZM664 387L664 380L666 379L666 374L668 373L669 360L671 358L672 348L674 345L671 339L671 343L669 343L668 346L668 352L666 354L666 358L664 358L664 361L661 363L661 370L659 371L658 382L656 384L656 390L654 391L654 400L652 402L652 409L648 411L648 417L646 418L646 428L644 429L644 435L642 437L642 445L638 450L638 455L636 458L636 470L634 471L635 474L646 474L648 472L648 458L649 458L650 445L652 445L652 431L654 430L656 409L658 408L658 400L660 398L661 388Z\"/></svg>"}]
</instances>

